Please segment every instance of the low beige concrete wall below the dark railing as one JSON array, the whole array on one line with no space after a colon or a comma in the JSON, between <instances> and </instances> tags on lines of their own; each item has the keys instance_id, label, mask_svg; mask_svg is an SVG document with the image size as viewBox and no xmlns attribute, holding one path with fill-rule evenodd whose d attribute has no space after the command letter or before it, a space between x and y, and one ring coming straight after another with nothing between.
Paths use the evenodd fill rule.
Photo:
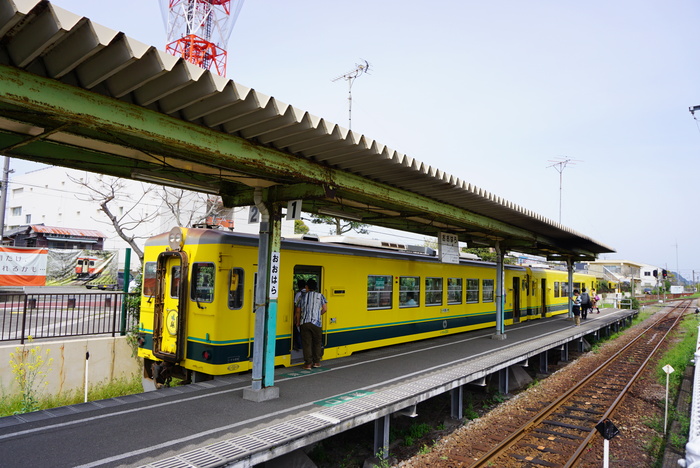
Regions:
<instances>
[{"instance_id":1,"label":"low beige concrete wall below the dark railing","mask_svg":"<svg viewBox=\"0 0 700 468\"><path fill-rule=\"evenodd\" d=\"M112 379L141 375L136 358L125 337L85 338L66 341L41 341L22 345L0 346L0 391L5 395L19 392L15 374L10 365L10 353L17 354L18 349L31 350L40 348L44 357L53 358L50 365L44 364L48 385L42 386L44 394L58 394L75 390L84 391L85 354L90 353L88 366L88 385L106 383ZM48 350L48 358L47 358Z\"/></svg>"}]
</instances>

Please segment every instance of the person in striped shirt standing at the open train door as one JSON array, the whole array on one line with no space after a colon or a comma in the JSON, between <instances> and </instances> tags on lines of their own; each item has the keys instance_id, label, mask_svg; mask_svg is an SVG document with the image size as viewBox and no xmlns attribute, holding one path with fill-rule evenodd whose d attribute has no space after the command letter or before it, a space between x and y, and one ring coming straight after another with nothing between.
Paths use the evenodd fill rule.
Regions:
<instances>
[{"instance_id":1,"label":"person in striped shirt standing at the open train door","mask_svg":"<svg viewBox=\"0 0 700 468\"><path fill-rule=\"evenodd\" d=\"M302 369L321 367L323 357L323 328L321 316L328 310L328 301L316 291L316 280L306 282L306 293L302 294L296 307L294 321L301 330L301 343L304 350Z\"/></svg>"}]
</instances>

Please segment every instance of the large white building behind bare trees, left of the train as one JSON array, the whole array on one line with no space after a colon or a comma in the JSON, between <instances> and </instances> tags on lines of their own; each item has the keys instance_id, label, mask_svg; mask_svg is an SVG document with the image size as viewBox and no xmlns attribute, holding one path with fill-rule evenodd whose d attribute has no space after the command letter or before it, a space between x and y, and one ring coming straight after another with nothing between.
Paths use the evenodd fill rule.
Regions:
<instances>
[{"instance_id":1,"label":"large white building behind bare trees, left of the train","mask_svg":"<svg viewBox=\"0 0 700 468\"><path fill-rule=\"evenodd\" d=\"M109 176L100 176L90 172L49 166L43 169L12 176L8 184L5 214L6 229L13 229L28 224L44 224L53 227L83 228L102 231L107 239L105 250L119 250L120 262L124 250L129 245L121 239L112 222L100 209L99 202L91 196L92 189L111 190L109 185L103 187L101 180L115 180ZM162 232L169 231L178 224L189 227L201 223L207 215L209 205L218 197L180 189L163 189L156 185L129 179L117 179L118 187L114 199L109 203L113 215L121 220L121 225L129 236L138 239L143 249L145 240ZM169 198L164 197L168 192ZM167 201L176 199L179 208L171 209ZM173 211L178 212L176 218ZM258 224L248 223L248 208L233 210L234 230L236 232L257 233ZM282 221L282 235L294 233L293 221ZM132 270L138 267L138 258L131 256Z\"/></svg>"}]
</instances>

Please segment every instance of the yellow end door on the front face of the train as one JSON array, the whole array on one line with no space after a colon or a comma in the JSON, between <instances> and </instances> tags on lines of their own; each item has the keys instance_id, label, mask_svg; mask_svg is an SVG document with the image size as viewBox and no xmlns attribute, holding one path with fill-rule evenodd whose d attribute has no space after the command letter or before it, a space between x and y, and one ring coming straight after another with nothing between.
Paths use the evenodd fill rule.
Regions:
<instances>
[{"instance_id":1,"label":"yellow end door on the front face of the train","mask_svg":"<svg viewBox=\"0 0 700 468\"><path fill-rule=\"evenodd\" d=\"M162 252L156 266L153 306L153 354L177 363L184 356L187 313L187 254Z\"/></svg>"}]
</instances>

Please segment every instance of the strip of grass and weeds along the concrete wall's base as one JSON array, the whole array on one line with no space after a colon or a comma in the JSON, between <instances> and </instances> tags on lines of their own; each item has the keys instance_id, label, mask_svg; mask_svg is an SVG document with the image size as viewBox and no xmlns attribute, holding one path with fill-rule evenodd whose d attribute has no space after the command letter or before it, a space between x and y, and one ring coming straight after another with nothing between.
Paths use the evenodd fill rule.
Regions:
<instances>
[{"instance_id":1,"label":"strip of grass and weeds along the concrete wall's base","mask_svg":"<svg viewBox=\"0 0 700 468\"><path fill-rule=\"evenodd\" d=\"M117 379L112 382L102 382L91 385L88 390L88 401L105 400L124 395L143 392L141 377L139 375L132 378ZM55 396L44 396L38 399L35 410L56 408L59 406L74 405L85 401L83 390L62 393ZM22 413L22 396L2 394L0 401L0 417L11 416Z\"/></svg>"}]
</instances>

